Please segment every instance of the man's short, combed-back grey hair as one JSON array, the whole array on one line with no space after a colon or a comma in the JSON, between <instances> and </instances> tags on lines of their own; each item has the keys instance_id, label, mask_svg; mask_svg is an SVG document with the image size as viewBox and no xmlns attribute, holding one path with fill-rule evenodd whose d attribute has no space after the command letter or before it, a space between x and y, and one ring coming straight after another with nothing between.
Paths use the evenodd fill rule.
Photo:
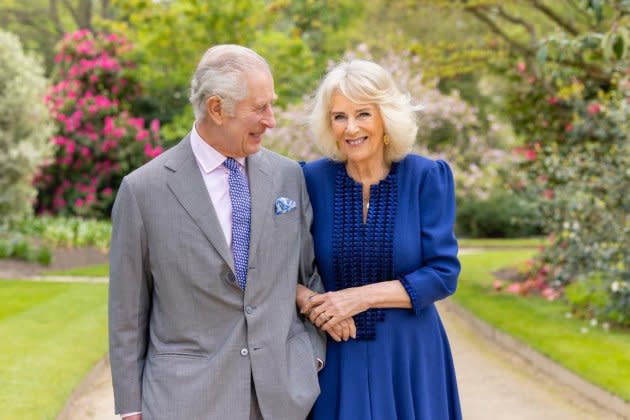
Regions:
<instances>
[{"instance_id":1,"label":"man's short, combed-back grey hair","mask_svg":"<svg viewBox=\"0 0 630 420\"><path fill-rule=\"evenodd\" d=\"M190 103L195 119L207 115L208 99L219 96L228 115L233 116L236 104L247 96L247 74L266 70L269 63L249 48L240 45L216 45L205 52L190 84Z\"/></svg>"}]
</instances>

